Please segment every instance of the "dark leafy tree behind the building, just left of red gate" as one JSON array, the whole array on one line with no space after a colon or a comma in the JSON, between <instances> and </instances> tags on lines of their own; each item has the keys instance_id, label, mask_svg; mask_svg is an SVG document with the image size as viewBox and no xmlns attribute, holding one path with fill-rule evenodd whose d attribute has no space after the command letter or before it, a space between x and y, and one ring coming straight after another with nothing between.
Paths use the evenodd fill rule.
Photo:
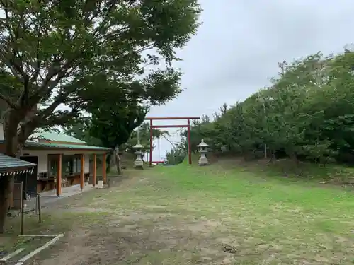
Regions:
<instances>
[{"instance_id":1,"label":"dark leafy tree behind the building, just left of red gate","mask_svg":"<svg viewBox=\"0 0 354 265\"><path fill-rule=\"evenodd\" d=\"M181 92L180 78L180 73L168 69L156 71L142 82L122 85L118 91L115 87L106 86L111 90L109 95L112 98L89 103L91 136L109 148L127 143L132 131L144 122L150 106L163 104Z\"/></svg>"}]
</instances>

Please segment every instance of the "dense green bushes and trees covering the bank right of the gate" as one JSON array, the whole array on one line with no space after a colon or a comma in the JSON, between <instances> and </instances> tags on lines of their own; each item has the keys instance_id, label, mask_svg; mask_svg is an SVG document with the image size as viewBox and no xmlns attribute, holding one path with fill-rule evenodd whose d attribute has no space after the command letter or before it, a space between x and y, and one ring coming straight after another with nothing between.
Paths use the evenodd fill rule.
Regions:
<instances>
[{"instance_id":1,"label":"dense green bushes and trees covering the bank right of the gate","mask_svg":"<svg viewBox=\"0 0 354 265\"><path fill-rule=\"evenodd\" d=\"M204 138L215 151L245 158L263 158L266 145L268 158L353 163L354 53L317 53L279 66L271 86L223 106L212 122L193 124L193 150Z\"/></svg>"}]
</instances>

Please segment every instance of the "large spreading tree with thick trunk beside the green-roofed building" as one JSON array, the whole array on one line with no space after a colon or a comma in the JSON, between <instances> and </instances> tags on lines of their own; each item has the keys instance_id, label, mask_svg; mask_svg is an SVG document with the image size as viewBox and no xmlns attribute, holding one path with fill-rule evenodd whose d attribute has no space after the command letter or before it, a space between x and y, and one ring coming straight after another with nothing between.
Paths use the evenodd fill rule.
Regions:
<instances>
[{"instance_id":1,"label":"large spreading tree with thick trunk beside the green-roofed building","mask_svg":"<svg viewBox=\"0 0 354 265\"><path fill-rule=\"evenodd\" d=\"M93 98L111 98L113 87L137 76L148 81L154 71L144 66L171 66L173 49L198 28L200 6L196 0L1 0L0 11L0 69L13 78L12 90L7 82L0 87L8 106L5 151L16 156L36 128L72 122ZM58 110L63 104L70 110ZM12 182L0 179L0 232Z\"/></svg>"}]
</instances>

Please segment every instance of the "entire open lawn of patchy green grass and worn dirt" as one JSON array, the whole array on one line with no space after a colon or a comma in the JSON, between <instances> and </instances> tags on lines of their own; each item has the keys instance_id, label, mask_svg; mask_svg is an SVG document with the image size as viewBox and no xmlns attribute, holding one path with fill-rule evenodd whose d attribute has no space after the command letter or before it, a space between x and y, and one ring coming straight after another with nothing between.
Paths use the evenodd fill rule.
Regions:
<instances>
[{"instance_id":1,"label":"entire open lawn of patchy green grass and worn dirt","mask_svg":"<svg viewBox=\"0 0 354 265\"><path fill-rule=\"evenodd\" d=\"M354 264L353 192L220 165L154 167L28 217L66 232L37 264Z\"/></svg>"}]
</instances>

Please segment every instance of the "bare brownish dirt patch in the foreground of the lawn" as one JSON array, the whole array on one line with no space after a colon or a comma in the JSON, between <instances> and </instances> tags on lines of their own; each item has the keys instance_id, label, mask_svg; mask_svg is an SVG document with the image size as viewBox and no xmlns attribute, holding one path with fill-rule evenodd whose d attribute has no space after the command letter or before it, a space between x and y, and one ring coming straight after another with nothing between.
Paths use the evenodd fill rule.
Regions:
<instances>
[{"instance_id":1,"label":"bare brownish dirt patch in the foreground of the lawn","mask_svg":"<svg viewBox=\"0 0 354 265\"><path fill-rule=\"evenodd\" d=\"M50 250L51 257L42 255L42 261L36 262L41 265L182 264L193 259L189 264L199 261L208 264L208 260L213 264L216 257L228 256L217 241L208 239L210 230L205 222L190 225L176 218L165 220L149 214L146 218L139 216L132 223L136 217L133 214L128 223L122 220L119 224L107 220L107 227L75 228Z\"/></svg>"}]
</instances>

